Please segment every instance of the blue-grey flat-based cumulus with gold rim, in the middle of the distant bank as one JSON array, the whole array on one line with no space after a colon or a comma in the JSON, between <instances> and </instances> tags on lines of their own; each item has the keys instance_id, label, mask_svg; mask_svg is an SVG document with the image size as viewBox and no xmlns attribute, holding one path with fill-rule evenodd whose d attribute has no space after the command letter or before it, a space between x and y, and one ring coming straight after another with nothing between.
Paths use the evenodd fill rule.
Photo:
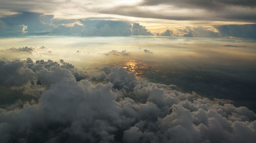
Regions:
<instances>
[{"instance_id":1,"label":"blue-grey flat-based cumulus with gold rim, in the middle of the distant bank","mask_svg":"<svg viewBox=\"0 0 256 143\"><path fill-rule=\"evenodd\" d=\"M113 20L79 20L80 24L58 25L51 34L73 35L73 36L131 36L131 35L153 35L139 23L130 24L125 21Z\"/></svg>"}]
</instances>

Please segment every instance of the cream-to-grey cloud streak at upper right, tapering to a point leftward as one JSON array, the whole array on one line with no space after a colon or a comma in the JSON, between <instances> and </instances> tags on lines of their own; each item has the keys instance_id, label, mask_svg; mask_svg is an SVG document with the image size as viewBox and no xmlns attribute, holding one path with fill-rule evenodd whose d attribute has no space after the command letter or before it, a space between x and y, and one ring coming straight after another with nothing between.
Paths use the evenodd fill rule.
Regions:
<instances>
[{"instance_id":1,"label":"cream-to-grey cloud streak at upper right, tapering to a point leftward","mask_svg":"<svg viewBox=\"0 0 256 143\"><path fill-rule=\"evenodd\" d=\"M230 2L230 4L228 4ZM209 20L255 22L255 2L242 1L144 1L97 9L102 14L167 20ZM247 5L244 5L247 4ZM161 11L161 12L159 12Z\"/></svg>"}]
</instances>

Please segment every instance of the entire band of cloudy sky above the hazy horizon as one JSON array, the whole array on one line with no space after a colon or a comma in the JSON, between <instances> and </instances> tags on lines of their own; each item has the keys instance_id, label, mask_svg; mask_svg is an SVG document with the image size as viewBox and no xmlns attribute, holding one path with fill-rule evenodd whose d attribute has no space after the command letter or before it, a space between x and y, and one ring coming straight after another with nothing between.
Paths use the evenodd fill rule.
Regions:
<instances>
[{"instance_id":1,"label":"entire band of cloudy sky above the hazy horizon","mask_svg":"<svg viewBox=\"0 0 256 143\"><path fill-rule=\"evenodd\" d=\"M173 36L256 37L254 34L256 2L253 0L1 0L0 4L0 31L2 32L0 36L18 35L18 33L21 36L49 33L50 35L75 36L151 35L145 32L134 34L133 30L140 30L137 30L138 28L131 30L131 25L129 24L139 23L145 26L144 28L148 32L155 35L157 33L161 35L166 30L170 30L170 35ZM98 21L93 22L93 20ZM113 24L104 20L118 21L119 23L117 24L121 28L125 27L126 31L121 34L115 33L113 32L115 28L111 27ZM90 32L78 34L77 31L86 31L86 28L91 28L86 26L90 21L91 26L95 26L96 23L102 24L101 27L96 26L99 32L91 30ZM105 27L103 27L104 25ZM62 31L61 28L66 28L69 33L58 32ZM99 30L99 28L102 28L102 30ZM14 30L16 33L13 32ZM17 31L19 32L17 33ZM91 32L98 34L91 34Z\"/></svg>"}]
</instances>

